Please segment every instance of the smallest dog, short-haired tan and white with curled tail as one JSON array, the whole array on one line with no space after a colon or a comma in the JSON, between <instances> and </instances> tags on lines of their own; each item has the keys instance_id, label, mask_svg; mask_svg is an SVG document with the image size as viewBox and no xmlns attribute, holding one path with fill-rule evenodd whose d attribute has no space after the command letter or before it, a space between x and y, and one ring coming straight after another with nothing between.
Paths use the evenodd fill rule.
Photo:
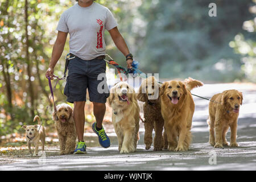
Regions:
<instances>
[{"instance_id":1,"label":"smallest dog, short-haired tan and white with curled tail","mask_svg":"<svg viewBox=\"0 0 256 182\"><path fill-rule=\"evenodd\" d=\"M38 120L38 125L24 125L22 128L26 130L26 140L27 140L27 146L28 150L31 152L31 143L34 143L35 145L35 151L34 155L32 156L38 156L38 147L39 142L41 140L42 142L42 151L44 151L44 142L46 142L46 132L44 131L44 127L41 125L41 120L38 115L34 117L34 122ZM41 125L41 127L40 127ZM40 128L39 128L40 127Z\"/></svg>"}]
</instances>

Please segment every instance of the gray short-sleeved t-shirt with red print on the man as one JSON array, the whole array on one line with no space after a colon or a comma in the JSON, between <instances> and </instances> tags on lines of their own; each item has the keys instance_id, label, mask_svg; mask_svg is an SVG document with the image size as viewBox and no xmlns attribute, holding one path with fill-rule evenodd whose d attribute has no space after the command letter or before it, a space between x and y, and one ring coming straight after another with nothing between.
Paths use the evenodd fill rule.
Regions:
<instances>
[{"instance_id":1,"label":"gray short-sleeved t-shirt with red print on the man","mask_svg":"<svg viewBox=\"0 0 256 182\"><path fill-rule=\"evenodd\" d=\"M69 52L83 60L105 55L104 32L117 27L111 11L96 2L89 7L76 3L60 16L57 31L68 32Z\"/></svg>"}]
</instances>

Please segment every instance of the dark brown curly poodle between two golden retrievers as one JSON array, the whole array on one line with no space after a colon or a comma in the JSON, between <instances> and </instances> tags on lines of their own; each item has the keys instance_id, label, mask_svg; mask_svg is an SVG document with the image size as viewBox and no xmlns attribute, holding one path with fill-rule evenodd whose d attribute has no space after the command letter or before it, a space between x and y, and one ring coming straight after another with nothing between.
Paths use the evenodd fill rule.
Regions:
<instances>
[{"instance_id":1,"label":"dark brown curly poodle between two golden retrievers","mask_svg":"<svg viewBox=\"0 0 256 182\"><path fill-rule=\"evenodd\" d=\"M150 149L152 144L152 131L155 130L154 151L162 150L163 146L167 149L168 143L163 139L164 119L161 114L161 105L159 97L160 85L155 77L148 77L142 81L137 99L144 102L144 143L146 150Z\"/></svg>"}]
</instances>

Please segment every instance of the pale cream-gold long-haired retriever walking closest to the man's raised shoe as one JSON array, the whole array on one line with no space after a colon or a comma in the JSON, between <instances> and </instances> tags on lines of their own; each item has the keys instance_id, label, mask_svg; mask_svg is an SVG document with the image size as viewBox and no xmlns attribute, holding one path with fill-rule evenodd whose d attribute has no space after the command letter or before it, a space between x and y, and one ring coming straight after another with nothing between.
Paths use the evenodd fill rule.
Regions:
<instances>
[{"instance_id":1,"label":"pale cream-gold long-haired retriever walking closest to the man's raised shoe","mask_svg":"<svg viewBox=\"0 0 256 182\"><path fill-rule=\"evenodd\" d=\"M139 139L139 105L134 89L126 82L118 82L110 89L108 104L113 109L112 122L120 154L135 152Z\"/></svg>"}]
</instances>

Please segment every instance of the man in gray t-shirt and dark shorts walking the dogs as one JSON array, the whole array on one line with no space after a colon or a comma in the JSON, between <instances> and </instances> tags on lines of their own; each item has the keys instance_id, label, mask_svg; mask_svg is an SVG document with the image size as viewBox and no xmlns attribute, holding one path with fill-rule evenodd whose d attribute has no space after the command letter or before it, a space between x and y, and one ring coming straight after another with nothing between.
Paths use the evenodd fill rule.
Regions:
<instances>
[{"instance_id":1,"label":"man in gray t-shirt and dark shorts walking the dogs","mask_svg":"<svg viewBox=\"0 0 256 182\"><path fill-rule=\"evenodd\" d=\"M106 98L109 93L98 93L97 86L102 80L97 80L100 73L105 73L105 40L104 31L109 31L115 46L126 56L127 67L131 68L131 55L125 40L119 33L117 21L107 7L93 0L79 0L78 3L64 11L57 26L57 39L52 49L52 57L46 77L53 79L53 68L60 59L69 34L69 52L74 59L69 60L67 83L64 94L67 101L74 103L73 118L75 120L78 143L74 154L85 154L84 142L86 89L89 100L93 102L93 114L96 122L93 131L98 135L102 147L108 148L110 140L106 135L102 121L106 111ZM106 79L105 79L106 80Z\"/></svg>"}]
</instances>

